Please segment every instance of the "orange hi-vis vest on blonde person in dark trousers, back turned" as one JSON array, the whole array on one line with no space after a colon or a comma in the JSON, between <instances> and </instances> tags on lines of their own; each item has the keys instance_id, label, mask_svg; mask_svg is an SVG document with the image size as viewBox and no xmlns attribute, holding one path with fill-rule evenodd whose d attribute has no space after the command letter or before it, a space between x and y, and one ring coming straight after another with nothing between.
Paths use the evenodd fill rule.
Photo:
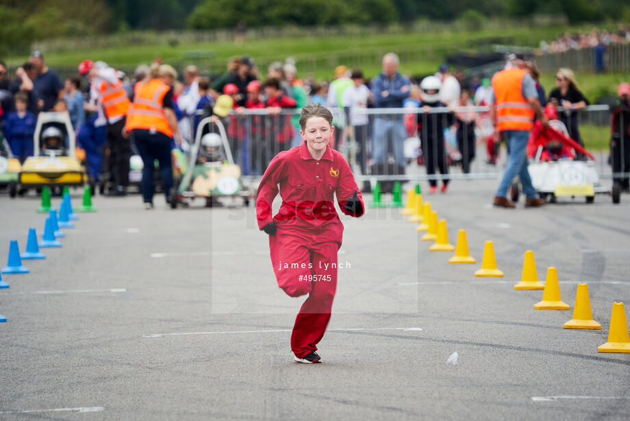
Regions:
<instances>
[{"instance_id":1,"label":"orange hi-vis vest on blonde person in dark trousers, back turned","mask_svg":"<svg viewBox=\"0 0 630 421\"><path fill-rule=\"evenodd\" d=\"M127 115L127 131L134 129L155 130L173 137L162 107L164 95L170 87L159 79L138 82L134 88L134 102Z\"/></svg>"}]
</instances>

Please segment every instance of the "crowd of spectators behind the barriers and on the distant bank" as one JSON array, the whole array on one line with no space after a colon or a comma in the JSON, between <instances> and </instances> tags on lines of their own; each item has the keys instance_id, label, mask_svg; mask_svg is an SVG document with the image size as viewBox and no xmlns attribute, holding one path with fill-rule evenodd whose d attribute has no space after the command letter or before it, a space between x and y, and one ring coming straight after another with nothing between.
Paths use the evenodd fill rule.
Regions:
<instances>
[{"instance_id":1,"label":"crowd of spectators behind the barriers and on the distant bank","mask_svg":"<svg viewBox=\"0 0 630 421\"><path fill-rule=\"evenodd\" d=\"M625 29L614 34L565 35L546 48L561 51L627 42L628 38ZM371 80L360 69L343 65L331 72L331 80L301 79L290 60L273 62L262 75L249 56L229 60L225 73L212 80L201 76L194 66L186 67L179 79L175 69L162 64L160 58L152 67L159 68L160 80L168 86L160 106L173 110L170 147L192 150L195 139L216 132L212 127L199 128L199 122L204 117L212 117L215 123L220 120L231 156L244 175L262 175L273 156L302 142L297 113L307 104L324 105L333 112L337 130L331 146L344 152L364 175L405 173L417 157L418 164L426 165L433 176L429 192L436 191L438 180L442 180L440 190L446 192L449 165L460 163L462 171L469 172L479 143L486 145L488 163L496 163L499 148L488 112L466 108L490 104L490 80L472 77L466 82L462 72L453 74L446 64L435 75L416 79L401 74L399 64L396 54L386 54L383 70ZM559 69L556 86L546 97L538 70L528 62L523 66L535 82L541 104L549 101L564 110L559 119L566 124L568 135L583 145L577 112L589 101L579 91L573 73ZM21 161L33 154L40 112L67 112L78 146L86 152L90 178L107 184L111 195L125 195L129 183L134 182L125 172L129 172L129 158L138 147L133 136L130 140L121 136L127 108L112 118L111 113L119 110L116 103L123 98L113 100L111 95L124 92L131 104L138 84L151 78L152 67L142 64L133 75L126 75L105 62L84 60L76 75L62 81L39 51L31 53L14 75L8 75L7 66L0 62L0 118L12 154ZM413 111L400 111L404 108ZM414 145L408 139L417 142L412 154L405 150L407 143ZM436 171L440 176L434 176Z\"/></svg>"}]
</instances>

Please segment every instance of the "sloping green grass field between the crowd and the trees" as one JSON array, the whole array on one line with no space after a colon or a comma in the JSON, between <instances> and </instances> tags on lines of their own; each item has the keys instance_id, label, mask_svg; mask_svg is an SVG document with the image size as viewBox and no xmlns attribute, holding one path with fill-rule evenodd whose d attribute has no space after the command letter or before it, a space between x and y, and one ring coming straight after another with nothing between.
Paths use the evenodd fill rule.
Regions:
<instances>
[{"instance_id":1,"label":"sloping green grass field between the crowd and the trees","mask_svg":"<svg viewBox=\"0 0 630 421\"><path fill-rule=\"evenodd\" d=\"M216 43L179 43L171 46L172 36L156 36L155 43L134 45L131 41L118 41L118 45L108 48L76 49L68 47L60 51L43 51L51 67L75 67L86 58L103 60L108 64L131 69L141 63L149 63L160 56L170 64L188 64L195 62L190 58L201 51L212 59L199 60L201 71L220 71L218 66L227 63L233 56L249 54L257 62L266 65L274 60L294 57L297 60L300 76L313 75L317 79L332 76L333 68L338 64L349 67L360 66L367 77L373 77L380 71L380 57L388 51L396 51L401 56L401 72L421 75L436 71L444 61L445 53L453 51L476 51L492 44L521 45L537 47L540 40L551 40L568 30L568 27L546 26L531 27L511 26L502 23L494 29L479 31L457 31L445 27L443 31L415 32L398 34L370 34L367 36L329 36L312 37L305 34L294 38L248 39L242 45L233 42ZM589 29L572 27L572 31ZM115 39L115 38L112 38ZM124 39L124 38L119 38ZM129 40L132 40L129 37ZM20 64L26 57L9 57L8 63ZM266 69L260 69L266 73Z\"/></svg>"}]
</instances>

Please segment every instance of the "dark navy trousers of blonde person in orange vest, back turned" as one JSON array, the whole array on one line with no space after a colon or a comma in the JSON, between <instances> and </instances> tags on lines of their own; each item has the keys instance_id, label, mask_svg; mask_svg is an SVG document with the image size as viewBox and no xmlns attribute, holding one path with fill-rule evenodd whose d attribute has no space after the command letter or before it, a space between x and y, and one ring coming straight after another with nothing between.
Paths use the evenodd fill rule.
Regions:
<instances>
[{"instance_id":1,"label":"dark navy trousers of blonde person in orange vest, back turned","mask_svg":"<svg viewBox=\"0 0 630 421\"><path fill-rule=\"evenodd\" d=\"M142 163L144 163L142 181L140 182L144 203L153 203L153 194L155 193L153 170L156 159L160 163L160 178L168 203L168 193L173 187L173 165L171 163L171 142L173 139L160 132L150 133L149 130L133 130L131 134L134 136L134 142L140 153L140 158L142 158Z\"/></svg>"}]
</instances>

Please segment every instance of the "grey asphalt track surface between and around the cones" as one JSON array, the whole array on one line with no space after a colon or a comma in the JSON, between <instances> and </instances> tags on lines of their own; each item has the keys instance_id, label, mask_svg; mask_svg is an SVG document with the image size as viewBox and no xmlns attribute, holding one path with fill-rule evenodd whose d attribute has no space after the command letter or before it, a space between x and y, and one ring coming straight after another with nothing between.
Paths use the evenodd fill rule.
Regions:
<instances>
[{"instance_id":1,"label":"grey asphalt track surface between and around the cones","mask_svg":"<svg viewBox=\"0 0 630 421\"><path fill-rule=\"evenodd\" d=\"M398 209L342 217L349 267L318 365L292 361L303 298L277 288L253 207L95 197L63 248L3 275L0 419L628 420L630 354L597 347L612 303L630 314L630 196L505 210L489 206L495 187L425 196L451 243L466 229L475 265L429 252ZM10 239L23 250L29 226L42 233L37 206L0 197L1 263ZM473 276L486 240L504 278ZM541 280L557 267L570 311L534 310L542 291L513 289L525 250ZM601 330L562 328L578 281Z\"/></svg>"}]
</instances>

